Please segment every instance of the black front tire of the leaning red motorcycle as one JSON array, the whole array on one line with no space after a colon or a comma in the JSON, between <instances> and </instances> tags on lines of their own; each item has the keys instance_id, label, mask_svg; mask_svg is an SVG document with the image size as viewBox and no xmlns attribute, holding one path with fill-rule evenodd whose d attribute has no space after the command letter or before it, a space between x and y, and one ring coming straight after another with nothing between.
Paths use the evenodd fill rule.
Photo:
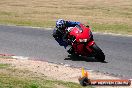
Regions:
<instances>
[{"instance_id":1,"label":"black front tire of the leaning red motorcycle","mask_svg":"<svg viewBox=\"0 0 132 88\"><path fill-rule=\"evenodd\" d=\"M105 55L104 55L103 51L96 44L91 46L91 48L93 49L93 55L94 55L95 59L103 62L105 60Z\"/></svg>"}]
</instances>

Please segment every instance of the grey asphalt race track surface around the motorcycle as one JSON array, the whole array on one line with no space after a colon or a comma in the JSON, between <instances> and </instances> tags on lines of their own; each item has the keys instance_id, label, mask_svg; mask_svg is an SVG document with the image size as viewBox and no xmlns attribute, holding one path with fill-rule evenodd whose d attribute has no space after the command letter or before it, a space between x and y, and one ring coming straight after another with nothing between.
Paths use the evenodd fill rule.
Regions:
<instances>
[{"instance_id":1,"label":"grey asphalt race track surface around the motorcycle","mask_svg":"<svg viewBox=\"0 0 132 88\"><path fill-rule=\"evenodd\" d=\"M132 37L94 34L104 51L106 62L68 55L52 37L52 30L16 26L0 26L0 53L30 57L33 60L85 67L124 78L132 78Z\"/></svg>"}]
</instances>

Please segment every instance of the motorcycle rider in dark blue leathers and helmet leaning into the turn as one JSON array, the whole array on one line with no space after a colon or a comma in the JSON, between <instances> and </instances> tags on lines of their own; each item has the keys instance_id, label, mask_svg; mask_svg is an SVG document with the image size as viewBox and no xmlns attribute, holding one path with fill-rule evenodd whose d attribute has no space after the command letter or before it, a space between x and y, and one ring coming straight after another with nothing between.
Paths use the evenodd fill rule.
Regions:
<instances>
[{"instance_id":1,"label":"motorcycle rider in dark blue leathers and helmet leaning into the turn","mask_svg":"<svg viewBox=\"0 0 132 88\"><path fill-rule=\"evenodd\" d=\"M74 21L65 21L63 19L58 19L56 21L56 27L53 30L53 37L55 40L59 43L60 46L66 47L70 45L70 42L67 41L67 28L68 27L75 27L76 25L79 25L80 22L74 22ZM72 54L74 52L73 48L71 47L68 51L69 54Z\"/></svg>"}]
</instances>

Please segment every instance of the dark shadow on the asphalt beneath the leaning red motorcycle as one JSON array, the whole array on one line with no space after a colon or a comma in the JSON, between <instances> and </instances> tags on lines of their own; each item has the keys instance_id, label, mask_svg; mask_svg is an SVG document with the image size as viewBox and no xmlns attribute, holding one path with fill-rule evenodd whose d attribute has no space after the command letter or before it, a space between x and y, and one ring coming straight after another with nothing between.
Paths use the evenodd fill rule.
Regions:
<instances>
[{"instance_id":1,"label":"dark shadow on the asphalt beneath the leaning red motorcycle","mask_svg":"<svg viewBox=\"0 0 132 88\"><path fill-rule=\"evenodd\" d=\"M84 56L76 56L76 55L68 55L64 60L72 60L72 61L86 61L86 62L100 62L96 60L94 57L84 57ZM108 63L103 61L101 63Z\"/></svg>"}]
</instances>

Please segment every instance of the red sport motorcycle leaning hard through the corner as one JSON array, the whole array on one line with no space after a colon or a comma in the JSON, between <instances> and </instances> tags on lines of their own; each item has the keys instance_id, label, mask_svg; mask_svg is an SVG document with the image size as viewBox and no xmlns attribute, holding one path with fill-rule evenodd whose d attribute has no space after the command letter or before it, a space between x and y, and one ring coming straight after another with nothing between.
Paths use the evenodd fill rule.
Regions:
<instances>
[{"instance_id":1,"label":"red sport motorcycle leaning hard through the corner","mask_svg":"<svg viewBox=\"0 0 132 88\"><path fill-rule=\"evenodd\" d=\"M105 55L94 42L93 35L89 27L80 24L75 27L69 27L67 30L68 40L71 41L71 46L74 49L75 55L92 56L101 62L105 60Z\"/></svg>"}]
</instances>

